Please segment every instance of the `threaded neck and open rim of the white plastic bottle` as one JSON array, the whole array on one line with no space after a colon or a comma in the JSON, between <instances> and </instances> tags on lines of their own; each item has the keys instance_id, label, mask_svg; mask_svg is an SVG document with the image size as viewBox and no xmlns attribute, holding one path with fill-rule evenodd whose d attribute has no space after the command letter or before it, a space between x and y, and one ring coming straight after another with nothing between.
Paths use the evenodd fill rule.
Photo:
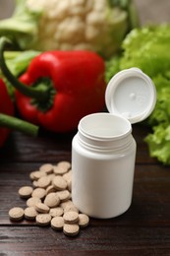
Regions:
<instances>
[{"instance_id":1,"label":"threaded neck and open rim of the white plastic bottle","mask_svg":"<svg viewBox=\"0 0 170 256\"><path fill-rule=\"evenodd\" d=\"M132 144L131 123L110 113L85 116L78 126L80 144L90 151L120 152Z\"/></svg>"}]
</instances>

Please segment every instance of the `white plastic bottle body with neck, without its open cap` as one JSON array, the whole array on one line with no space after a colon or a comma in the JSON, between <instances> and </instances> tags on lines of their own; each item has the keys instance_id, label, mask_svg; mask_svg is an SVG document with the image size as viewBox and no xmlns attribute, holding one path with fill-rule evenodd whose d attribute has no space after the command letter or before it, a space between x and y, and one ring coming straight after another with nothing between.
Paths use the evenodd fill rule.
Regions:
<instances>
[{"instance_id":1,"label":"white plastic bottle body with neck, without its open cap","mask_svg":"<svg viewBox=\"0 0 170 256\"><path fill-rule=\"evenodd\" d=\"M106 113L86 116L79 125L72 144L72 198L90 217L113 218L131 205L136 159L131 130L128 120Z\"/></svg>"}]
</instances>

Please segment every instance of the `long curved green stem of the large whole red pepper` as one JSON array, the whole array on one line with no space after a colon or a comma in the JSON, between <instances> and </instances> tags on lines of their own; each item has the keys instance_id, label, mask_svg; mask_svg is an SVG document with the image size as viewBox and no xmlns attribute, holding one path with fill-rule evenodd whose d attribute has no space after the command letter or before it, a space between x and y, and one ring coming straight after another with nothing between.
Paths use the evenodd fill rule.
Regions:
<instances>
[{"instance_id":1,"label":"long curved green stem of the large whole red pepper","mask_svg":"<svg viewBox=\"0 0 170 256\"><path fill-rule=\"evenodd\" d=\"M21 83L8 69L5 63L4 50L5 47L11 43L12 42L5 36L0 38L0 67L4 76L12 84L12 86L19 90L23 95L33 97L39 101L47 100L49 98L49 89L46 87L46 85L40 84L36 88L28 87Z\"/></svg>"}]
</instances>

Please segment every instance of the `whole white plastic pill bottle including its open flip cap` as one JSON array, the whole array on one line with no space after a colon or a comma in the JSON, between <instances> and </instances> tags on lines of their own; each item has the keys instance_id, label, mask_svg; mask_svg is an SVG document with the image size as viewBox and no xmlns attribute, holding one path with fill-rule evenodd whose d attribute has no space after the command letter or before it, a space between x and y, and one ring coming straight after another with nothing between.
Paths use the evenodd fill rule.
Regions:
<instances>
[{"instance_id":1,"label":"whole white plastic pill bottle including its open flip cap","mask_svg":"<svg viewBox=\"0 0 170 256\"><path fill-rule=\"evenodd\" d=\"M136 159L131 123L148 116L155 98L154 85L141 70L125 70L107 86L110 113L80 121L72 146L72 198L81 212L107 219L129 209Z\"/></svg>"}]
</instances>

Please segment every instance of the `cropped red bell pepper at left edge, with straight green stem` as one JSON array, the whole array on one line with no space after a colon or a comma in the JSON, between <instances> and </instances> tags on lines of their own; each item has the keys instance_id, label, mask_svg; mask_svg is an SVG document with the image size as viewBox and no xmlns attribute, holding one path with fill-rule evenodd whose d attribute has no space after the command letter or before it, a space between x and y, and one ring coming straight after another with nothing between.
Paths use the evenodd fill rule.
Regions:
<instances>
[{"instance_id":1,"label":"cropped red bell pepper at left edge, with straight green stem","mask_svg":"<svg viewBox=\"0 0 170 256\"><path fill-rule=\"evenodd\" d=\"M14 104L8 95L6 85L0 79L0 148L6 142L11 129L19 130L32 136L37 134L37 126L29 124L13 115Z\"/></svg>"}]
</instances>

